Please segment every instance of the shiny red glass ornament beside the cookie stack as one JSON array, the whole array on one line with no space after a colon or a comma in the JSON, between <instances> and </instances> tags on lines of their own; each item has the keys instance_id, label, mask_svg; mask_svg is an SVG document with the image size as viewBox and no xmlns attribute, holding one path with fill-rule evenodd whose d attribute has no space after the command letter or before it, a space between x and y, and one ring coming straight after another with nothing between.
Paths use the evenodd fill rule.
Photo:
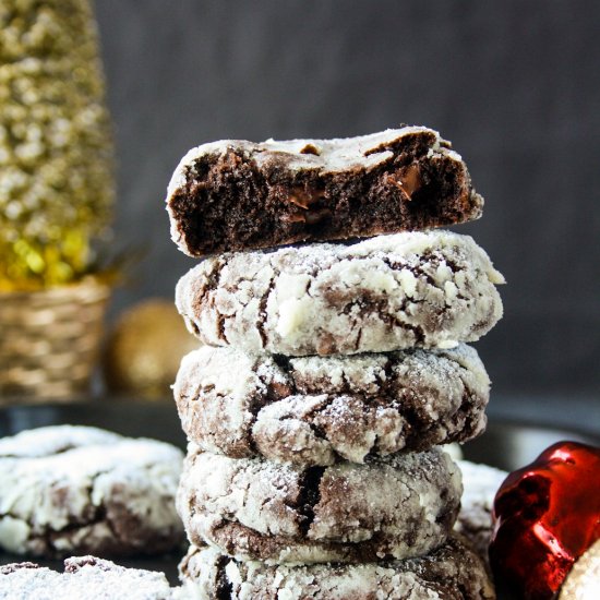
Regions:
<instances>
[{"instance_id":1,"label":"shiny red glass ornament beside the cookie stack","mask_svg":"<svg viewBox=\"0 0 600 600\"><path fill-rule=\"evenodd\" d=\"M550 446L504 480L493 517L496 580L523 598L553 598L574 562L600 539L600 448Z\"/></svg>"}]
</instances>

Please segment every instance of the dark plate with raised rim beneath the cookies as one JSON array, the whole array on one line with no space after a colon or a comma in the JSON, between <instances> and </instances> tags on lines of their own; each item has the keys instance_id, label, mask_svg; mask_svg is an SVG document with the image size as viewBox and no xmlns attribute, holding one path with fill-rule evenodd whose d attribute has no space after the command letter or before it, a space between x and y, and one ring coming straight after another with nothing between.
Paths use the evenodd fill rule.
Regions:
<instances>
[{"instance_id":1,"label":"dark plate with raised rim beneath the cookies","mask_svg":"<svg viewBox=\"0 0 600 600\"><path fill-rule=\"evenodd\" d=\"M0 408L0 437L25 429L50 424L83 424L108 429L131 436L155 437L184 447L185 437L173 404L122 401L87 401L75 404L13 406ZM571 429L556 429L533 423L491 420L485 433L463 446L465 458L505 470L530 463L545 447L562 440L600 445L600 439ZM124 566L163 571L177 583L179 555L153 559L119 560ZM22 561L0 553L0 564ZM37 561L61 569L60 562ZM501 598L508 600L502 595Z\"/></svg>"}]
</instances>

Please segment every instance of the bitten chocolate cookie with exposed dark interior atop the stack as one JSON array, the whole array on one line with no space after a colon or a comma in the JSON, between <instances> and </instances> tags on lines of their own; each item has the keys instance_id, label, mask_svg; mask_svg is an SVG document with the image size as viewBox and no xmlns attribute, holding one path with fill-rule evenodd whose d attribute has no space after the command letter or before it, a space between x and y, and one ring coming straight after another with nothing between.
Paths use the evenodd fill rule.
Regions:
<instances>
[{"instance_id":1,"label":"bitten chocolate cookie with exposed dark interior atop the stack","mask_svg":"<svg viewBox=\"0 0 600 600\"><path fill-rule=\"evenodd\" d=\"M483 200L436 131L191 149L169 183L171 237L191 256L364 238L476 219Z\"/></svg>"}]
</instances>

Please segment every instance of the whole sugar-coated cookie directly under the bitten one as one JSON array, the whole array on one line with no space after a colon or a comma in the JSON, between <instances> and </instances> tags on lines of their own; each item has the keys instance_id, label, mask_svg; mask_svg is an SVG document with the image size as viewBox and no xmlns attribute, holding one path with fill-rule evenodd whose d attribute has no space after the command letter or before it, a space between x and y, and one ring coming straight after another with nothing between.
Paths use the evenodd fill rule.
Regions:
<instances>
[{"instance_id":1,"label":"whole sugar-coated cookie directly under the bitten one","mask_svg":"<svg viewBox=\"0 0 600 600\"><path fill-rule=\"evenodd\" d=\"M205 344L286 356L475 341L502 316L504 281L472 238L381 236L207 259L176 303Z\"/></svg>"}]
</instances>

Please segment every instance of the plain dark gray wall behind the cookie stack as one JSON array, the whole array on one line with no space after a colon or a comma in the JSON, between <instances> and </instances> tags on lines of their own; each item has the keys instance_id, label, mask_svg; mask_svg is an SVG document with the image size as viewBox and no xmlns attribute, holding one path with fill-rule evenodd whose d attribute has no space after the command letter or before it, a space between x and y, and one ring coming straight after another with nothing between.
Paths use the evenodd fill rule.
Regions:
<instances>
[{"instance_id":1,"label":"plain dark gray wall behind the cookie stack","mask_svg":"<svg viewBox=\"0 0 600 600\"><path fill-rule=\"evenodd\" d=\"M485 196L459 231L508 285L480 351L504 394L600 391L600 3L97 0L119 153L117 244L145 247L112 314L193 264L164 194L202 142L442 132Z\"/></svg>"}]
</instances>

